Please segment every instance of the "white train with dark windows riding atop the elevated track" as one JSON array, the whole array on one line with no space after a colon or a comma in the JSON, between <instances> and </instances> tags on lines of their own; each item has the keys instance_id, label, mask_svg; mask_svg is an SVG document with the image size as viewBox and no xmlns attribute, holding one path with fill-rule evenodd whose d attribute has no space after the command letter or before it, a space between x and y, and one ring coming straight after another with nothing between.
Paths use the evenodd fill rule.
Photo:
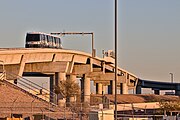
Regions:
<instances>
[{"instance_id":1,"label":"white train with dark windows riding atop the elevated track","mask_svg":"<svg viewBox=\"0 0 180 120\"><path fill-rule=\"evenodd\" d=\"M29 32L26 34L26 48L59 48L62 49L61 38L55 35Z\"/></svg>"}]
</instances>

